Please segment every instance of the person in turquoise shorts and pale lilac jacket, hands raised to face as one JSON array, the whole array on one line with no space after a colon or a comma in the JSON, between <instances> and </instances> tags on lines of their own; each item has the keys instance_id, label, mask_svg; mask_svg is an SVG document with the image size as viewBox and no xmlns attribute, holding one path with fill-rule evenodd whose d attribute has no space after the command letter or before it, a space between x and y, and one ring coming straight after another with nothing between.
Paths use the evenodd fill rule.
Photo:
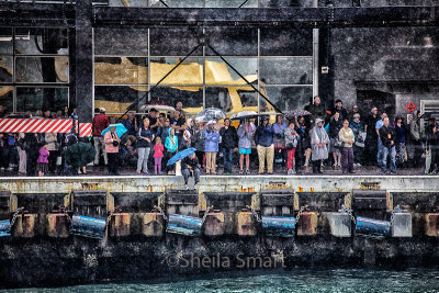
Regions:
<instances>
[{"instance_id":1,"label":"person in turquoise shorts and pale lilac jacket, hands raised to face","mask_svg":"<svg viewBox=\"0 0 439 293\"><path fill-rule=\"evenodd\" d=\"M250 154L251 137L254 136L256 126L248 119L241 121L238 127L238 148L239 148L239 173L244 174L244 157L246 157L246 174L250 174Z\"/></svg>"}]
</instances>

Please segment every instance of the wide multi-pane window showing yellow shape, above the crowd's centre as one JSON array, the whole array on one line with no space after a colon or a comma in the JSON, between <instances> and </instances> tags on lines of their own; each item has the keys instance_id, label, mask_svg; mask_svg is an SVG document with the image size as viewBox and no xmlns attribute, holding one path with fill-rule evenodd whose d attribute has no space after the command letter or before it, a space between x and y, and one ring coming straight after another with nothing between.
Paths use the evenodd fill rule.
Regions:
<instances>
[{"instance_id":1,"label":"wide multi-pane window showing yellow shape, above the crowd's centre","mask_svg":"<svg viewBox=\"0 0 439 293\"><path fill-rule=\"evenodd\" d=\"M204 37L212 48L196 48ZM283 111L305 105L314 84L312 30L94 31L94 105L108 113L121 114L134 102L140 111L151 100L182 101L190 114L209 106L274 112L248 82Z\"/></svg>"}]
</instances>

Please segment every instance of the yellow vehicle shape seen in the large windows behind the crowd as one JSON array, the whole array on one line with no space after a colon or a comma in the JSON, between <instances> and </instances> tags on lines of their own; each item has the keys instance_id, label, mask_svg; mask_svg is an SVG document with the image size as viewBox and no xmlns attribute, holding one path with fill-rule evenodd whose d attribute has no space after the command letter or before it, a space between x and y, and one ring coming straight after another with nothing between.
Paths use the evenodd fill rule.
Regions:
<instances>
[{"instance_id":1,"label":"yellow vehicle shape seen in the large windows behind the crowd","mask_svg":"<svg viewBox=\"0 0 439 293\"><path fill-rule=\"evenodd\" d=\"M178 60L176 60L178 63ZM150 61L150 83L151 87L166 76L176 65ZM256 75L245 77L249 82L257 80ZM139 66L133 64L128 58L121 57L120 64L111 64L104 61L94 63L94 83L95 84L138 84L148 82L148 68L146 66ZM176 86L177 84L177 86ZM181 86L179 86L181 84ZM195 86L184 86L195 84ZM200 86L198 86L200 84ZM170 88L198 92L202 89L203 84L203 66L199 63L183 63L177 67L160 86L169 86ZM244 79L234 80L226 64L205 60L205 84L218 87L224 84L227 90L229 99L222 101L223 110L227 113L227 116L232 116L235 113L241 111L258 111L257 102L248 102L243 99L247 95L256 97L256 91L246 83ZM130 86L130 88L137 91L147 91L146 86ZM263 89L261 92L267 97ZM161 97L166 100L167 97ZM256 98L254 99L256 101ZM146 102L146 101L145 101ZM123 113L131 103L114 102L108 100L95 100L95 108L105 108L109 113ZM184 104L184 101L183 101ZM183 108L188 114L196 114L203 110L202 104L200 106ZM267 105L262 109L264 112L274 112L271 105Z\"/></svg>"}]
</instances>

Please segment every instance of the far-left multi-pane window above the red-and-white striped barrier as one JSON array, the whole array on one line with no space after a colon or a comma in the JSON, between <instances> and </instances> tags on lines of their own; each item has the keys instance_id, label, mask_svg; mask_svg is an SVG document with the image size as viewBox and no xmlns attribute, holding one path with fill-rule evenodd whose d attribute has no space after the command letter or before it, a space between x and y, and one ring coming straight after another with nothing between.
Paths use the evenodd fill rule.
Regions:
<instances>
[{"instance_id":1,"label":"far-left multi-pane window above the red-and-white striped barrier","mask_svg":"<svg viewBox=\"0 0 439 293\"><path fill-rule=\"evenodd\" d=\"M69 102L68 31L0 29L0 104L10 113L56 111Z\"/></svg>"}]
</instances>

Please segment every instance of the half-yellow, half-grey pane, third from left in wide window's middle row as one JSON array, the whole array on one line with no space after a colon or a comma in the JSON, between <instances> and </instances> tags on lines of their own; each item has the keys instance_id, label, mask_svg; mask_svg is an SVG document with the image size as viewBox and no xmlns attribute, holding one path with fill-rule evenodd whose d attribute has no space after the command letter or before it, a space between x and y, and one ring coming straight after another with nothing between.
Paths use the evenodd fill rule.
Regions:
<instances>
[{"instance_id":1,"label":"half-yellow, half-grey pane, third from left in wide window's middle row","mask_svg":"<svg viewBox=\"0 0 439 293\"><path fill-rule=\"evenodd\" d=\"M258 83L257 58L224 58L249 82ZM207 57L205 63L206 84L247 84L239 75L225 64L221 58Z\"/></svg>"}]
</instances>

